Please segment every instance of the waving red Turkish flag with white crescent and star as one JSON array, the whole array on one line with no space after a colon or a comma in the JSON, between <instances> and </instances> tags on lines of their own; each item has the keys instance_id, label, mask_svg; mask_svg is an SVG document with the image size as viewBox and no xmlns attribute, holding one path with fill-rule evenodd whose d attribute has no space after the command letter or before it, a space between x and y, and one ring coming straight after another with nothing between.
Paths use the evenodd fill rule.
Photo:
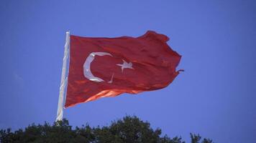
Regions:
<instances>
[{"instance_id":1,"label":"waving red Turkish flag with white crescent and star","mask_svg":"<svg viewBox=\"0 0 256 143\"><path fill-rule=\"evenodd\" d=\"M168 36L147 31L139 37L70 36L65 108L101 97L162 89L178 75L181 56Z\"/></svg>"}]
</instances>

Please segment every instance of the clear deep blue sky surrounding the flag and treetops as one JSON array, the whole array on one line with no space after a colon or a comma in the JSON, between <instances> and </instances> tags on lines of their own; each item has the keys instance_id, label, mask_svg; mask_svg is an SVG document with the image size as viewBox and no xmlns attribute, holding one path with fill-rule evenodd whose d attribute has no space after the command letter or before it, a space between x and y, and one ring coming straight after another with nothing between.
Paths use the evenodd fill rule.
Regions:
<instances>
[{"instance_id":1,"label":"clear deep blue sky surrounding the flag and treetops","mask_svg":"<svg viewBox=\"0 0 256 143\"><path fill-rule=\"evenodd\" d=\"M170 137L189 132L215 142L255 142L256 2L0 2L0 128L54 122L65 31L141 36L154 30L183 56L165 89L123 94L65 109L73 126L107 125L126 114Z\"/></svg>"}]
</instances>

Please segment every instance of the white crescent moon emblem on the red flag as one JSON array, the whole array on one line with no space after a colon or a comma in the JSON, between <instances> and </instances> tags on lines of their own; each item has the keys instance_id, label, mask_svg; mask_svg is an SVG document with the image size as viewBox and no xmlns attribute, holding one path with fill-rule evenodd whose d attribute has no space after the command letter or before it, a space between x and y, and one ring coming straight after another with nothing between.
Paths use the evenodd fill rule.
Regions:
<instances>
[{"instance_id":1,"label":"white crescent moon emblem on the red flag","mask_svg":"<svg viewBox=\"0 0 256 143\"><path fill-rule=\"evenodd\" d=\"M101 79L99 77L95 77L91 73L91 62L93 61L93 59L95 58L96 55L97 56L105 56L105 55L112 56L111 54L106 53L106 52L92 52L86 58L86 61L84 61L84 64L83 64L83 75L84 75L84 77L86 77L86 79L89 79L89 80L91 80L93 82L104 82L103 79Z\"/></svg>"}]
</instances>

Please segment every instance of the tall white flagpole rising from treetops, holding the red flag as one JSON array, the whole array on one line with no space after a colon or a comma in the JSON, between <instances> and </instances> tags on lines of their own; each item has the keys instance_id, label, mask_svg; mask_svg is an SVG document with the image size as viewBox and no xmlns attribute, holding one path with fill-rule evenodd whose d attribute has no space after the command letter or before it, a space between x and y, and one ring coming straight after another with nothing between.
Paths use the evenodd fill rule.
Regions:
<instances>
[{"instance_id":1,"label":"tall white flagpole rising from treetops, holding the red flag","mask_svg":"<svg viewBox=\"0 0 256 143\"><path fill-rule=\"evenodd\" d=\"M59 102L58 102L58 111L56 121L60 121L63 119L63 108L65 103L65 87L68 82L68 77L66 76L67 71L67 61L69 54L69 46L70 46L70 31L65 32L65 49L64 49L64 57L63 57L63 69L60 80L60 94L59 94Z\"/></svg>"}]
</instances>

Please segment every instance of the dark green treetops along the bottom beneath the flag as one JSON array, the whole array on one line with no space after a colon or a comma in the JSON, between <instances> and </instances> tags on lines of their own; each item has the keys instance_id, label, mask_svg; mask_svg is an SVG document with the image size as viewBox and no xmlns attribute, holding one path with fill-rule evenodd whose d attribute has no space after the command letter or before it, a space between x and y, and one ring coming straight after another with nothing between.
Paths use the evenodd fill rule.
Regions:
<instances>
[{"instance_id":1,"label":"dark green treetops along the bottom beneath the flag","mask_svg":"<svg viewBox=\"0 0 256 143\"><path fill-rule=\"evenodd\" d=\"M143 122L138 117L124 117L110 126L90 127L88 124L72 129L67 119L50 125L32 124L24 130L11 132L11 129L0 130L1 143L35 142L35 143L185 143L181 137L170 139L167 135L161 137L161 129L152 129L150 123ZM201 136L191 134L191 143L199 143ZM213 143L211 139L203 139L201 143Z\"/></svg>"}]
</instances>

